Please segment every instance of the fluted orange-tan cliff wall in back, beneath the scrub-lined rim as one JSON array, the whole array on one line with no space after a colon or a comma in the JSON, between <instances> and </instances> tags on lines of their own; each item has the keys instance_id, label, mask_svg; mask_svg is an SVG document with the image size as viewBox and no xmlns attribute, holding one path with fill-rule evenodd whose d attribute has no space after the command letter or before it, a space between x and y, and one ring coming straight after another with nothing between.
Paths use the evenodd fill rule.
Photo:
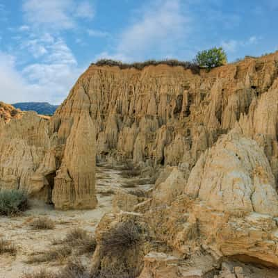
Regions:
<instances>
[{"instance_id":1,"label":"fluted orange-tan cliff wall in back, beneath the scrub-lined rim","mask_svg":"<svg viewBox=\"0 0 278 278\"><path fill-rule=\"evenodd\" d=\"M190 169L240 122L245 135L265 148L277 179L277 76L278 53L199 74L168 65L142 70L91 65L54 118L76 113L72 105L81 88L95 122L99 159L188 163ZM67 124L62 120L63 132Z\"/></svg>"}]
</instances>

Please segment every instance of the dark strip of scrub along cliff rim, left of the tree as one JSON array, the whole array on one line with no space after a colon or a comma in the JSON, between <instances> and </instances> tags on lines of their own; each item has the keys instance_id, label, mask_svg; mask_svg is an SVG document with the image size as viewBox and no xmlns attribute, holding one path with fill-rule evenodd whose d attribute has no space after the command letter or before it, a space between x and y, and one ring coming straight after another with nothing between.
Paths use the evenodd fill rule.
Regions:
<instances>
[{"instance_id":1,"label":"dark strip of scrub along cliff rim, left of the tree","mask_svg":"<svg viewBox=\"0 0 278 278\"><path fill-rule=\"evenodd\" d=\"M166 59L166 60L146 60L145 62L135 62L135 63L123 63L120 60L111 60L111 59L101 59L98 60L97 63L92 63L91 65L105 66L108 65L110 67L117 66L120 69L130 69L135 68L136 70L142 70L144 67L148 67L149 65L169 65L170 67L183 67L186 70L192 70L194 73L199 72L199 67L196 63L179 61L175 59Z\"/></svg>"}]
</instances>

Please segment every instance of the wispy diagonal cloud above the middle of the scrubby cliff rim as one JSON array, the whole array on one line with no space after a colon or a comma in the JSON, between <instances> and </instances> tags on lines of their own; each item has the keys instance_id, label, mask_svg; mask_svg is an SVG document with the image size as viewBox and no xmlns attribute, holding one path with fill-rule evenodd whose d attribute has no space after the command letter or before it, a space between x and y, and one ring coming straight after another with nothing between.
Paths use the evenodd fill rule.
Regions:
<instances>
[{"instance_id":1,"label":"wispy diagonal cloud above the middle of the scrubby cliff rim","mask_svg":"<svg viewBox=\"0 0 278 278\"><path fill-rule=\"evenodd\" d=\"M152 1L138 11L137 18L122 32L108 57L142 60L154 50L174 53L191 29L190 16L185 10L181 0Z\"/></svg>"}]
</instances>

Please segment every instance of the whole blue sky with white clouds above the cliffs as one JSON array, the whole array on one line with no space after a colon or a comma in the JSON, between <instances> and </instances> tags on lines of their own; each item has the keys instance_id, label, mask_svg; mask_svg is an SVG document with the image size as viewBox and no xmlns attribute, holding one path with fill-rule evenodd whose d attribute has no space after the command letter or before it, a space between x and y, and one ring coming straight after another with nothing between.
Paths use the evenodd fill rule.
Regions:
<instances>
[{"instance_id":1,"label":"whole blue sky with white clouds above the cliffs","mask_svg":"<svg viewBox=\"0 0 278 278\"><path fill-rule=\"evenodd\" d=\"M60 104L99 58L276 51L278 0L0 0L0 100Z\"/></svg>"}]
</instances>

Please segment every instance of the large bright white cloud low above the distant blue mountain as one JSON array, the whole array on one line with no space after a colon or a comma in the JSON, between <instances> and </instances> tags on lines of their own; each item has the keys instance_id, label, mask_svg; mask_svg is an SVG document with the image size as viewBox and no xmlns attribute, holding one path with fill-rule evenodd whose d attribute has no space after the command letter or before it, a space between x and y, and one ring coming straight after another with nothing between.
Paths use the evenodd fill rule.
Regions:
<instances>
[{"instance_id":1,"label":"large bright white cloud low above the distant blue mountain","mask_svg":"<svg viewBox=\"0 0 278 278\"><path fill-rule=\"evenodd\" d=\"M47 42L47 43L46 43ZM70 88L85 70L61 38L49 34L26 40L28 51L43 47L40 60L17 69L15 56L0 52L0 99L8 103L17 101L49 101L60 104Z\"/></svg>"}]
</instances>

